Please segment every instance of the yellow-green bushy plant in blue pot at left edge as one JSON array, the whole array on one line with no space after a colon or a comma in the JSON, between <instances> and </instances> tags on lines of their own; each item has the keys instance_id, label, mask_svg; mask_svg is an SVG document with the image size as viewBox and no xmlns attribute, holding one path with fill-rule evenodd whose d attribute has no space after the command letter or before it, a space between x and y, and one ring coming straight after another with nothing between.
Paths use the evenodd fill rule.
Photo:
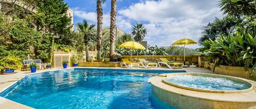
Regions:
<instances>
[{"instance_id":1,"label":"yellow-green bushy plant in blue pot at left edge","mask_svg":"<svg viewBox=\"0 0 256 109\"><path fill-rule=\"evenodd\" d=\"M14 73L14 70L20 68L21 66L22 63L19 57L8 55L0 60L1 73L4 74Z\"/></svg>"}]
</instances>

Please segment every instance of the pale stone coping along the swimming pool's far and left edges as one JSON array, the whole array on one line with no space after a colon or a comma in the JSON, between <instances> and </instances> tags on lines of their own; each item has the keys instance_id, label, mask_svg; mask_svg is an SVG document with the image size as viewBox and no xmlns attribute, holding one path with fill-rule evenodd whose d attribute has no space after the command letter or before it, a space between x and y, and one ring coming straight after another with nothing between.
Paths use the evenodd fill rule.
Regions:
<instances>
[{"instance_id":1,"label":"pale stone coping along the swimming pool's far and left edges","mask_svg":"<svg viewBox=\"0 0 256 109\"><path fill-rule=\"evenodd\" d=\"M67 70L67 69L75 69L75 68L86 68L86 69L125 69L125 70L165 70L165 71L184 71L186 72L186 70L184 69L145 69L145 68L119 68L119 67L68 67L68 68L65 68L65 69L52 69L52 70L39 70L38 72L36 73L26 73L24 76L22 76L22 78L18 79L17 81L11 83L10 85L2 88L0 90L0 94L3 93L5 90L7 90L8 88L10 88L11 86L17 84L17 82L19 82L20 80L26 78L26 76L28 75L33 75L33 74L41 74L41 73L47 73L47 72L55 72L55 71L58 71L58 70ZM7 98L3 98L3 97L0 97L0 101L1 100L7 100L7 102L9 102L9 104L15 104L15 107L16 105L17 106L21 106L19 108L33 108L33 107L29 107L29 106L26 106L26 105L23 105L23 104L20 104L19 102L15 102L13 100L10 100L10 99L7 99ZM0 104L1 105L1 104ZM1 106L0 106L1 107Z\"/></svg>"}]
</instances>

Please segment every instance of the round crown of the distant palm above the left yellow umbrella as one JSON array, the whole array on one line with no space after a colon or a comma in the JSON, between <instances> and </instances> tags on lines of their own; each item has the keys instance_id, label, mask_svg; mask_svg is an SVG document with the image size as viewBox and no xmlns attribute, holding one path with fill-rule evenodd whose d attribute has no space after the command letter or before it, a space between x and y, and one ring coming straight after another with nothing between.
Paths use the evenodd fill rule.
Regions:
<instances>
[{"instance_id":1,"label":"round crown of the distant palm above the left yellow umbrella","mask_svg":"<svg viewBox=\"0 0 256 109\"><path fill-rule=\"evenodd\" d=\"M142 24L136 24L133 26L132 34L135 41L143 41L145 34L147 34L147 29Z\"/></svg>"}]
</instances>

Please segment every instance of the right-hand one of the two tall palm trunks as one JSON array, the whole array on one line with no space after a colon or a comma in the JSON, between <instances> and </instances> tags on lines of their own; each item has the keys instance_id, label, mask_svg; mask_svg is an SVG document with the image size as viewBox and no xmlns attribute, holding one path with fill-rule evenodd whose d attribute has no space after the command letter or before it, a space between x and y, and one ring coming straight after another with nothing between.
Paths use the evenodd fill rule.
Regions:
<instances>
[{"instance_id":1,"label":"right-hand one of the two tall palm trunks","mask_svg":"<svg viewBox=\"0 0 256 109\"><path fill-rule=\"evenodd\" d=\"M115 53L115 40L116 40L116 1L111 0L111 15L110 15L110 61L114 60L112 56Z\"/></svg>"}]
</instances>

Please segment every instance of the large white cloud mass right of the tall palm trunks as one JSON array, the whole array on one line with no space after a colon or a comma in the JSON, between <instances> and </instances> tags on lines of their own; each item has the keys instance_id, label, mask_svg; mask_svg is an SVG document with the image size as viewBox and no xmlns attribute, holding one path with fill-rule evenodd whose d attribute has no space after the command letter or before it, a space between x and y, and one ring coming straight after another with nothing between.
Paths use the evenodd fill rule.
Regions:
<instances>
[{"instance_id":1,"label":"large white cloud mass right of the tall palm trunks","mask_svg":"<svg viewBox=\"0 0 256 109\"><path fill-rule=\"evenodd\" d=\"M170 46L184 37L199 40L201 28L216 16L221 17L217 1L145 1L118 11L129 20L144 23L145 40L157 46ZM198 47L198 46L190 46Z\"/></svg>"}]
</instances>

